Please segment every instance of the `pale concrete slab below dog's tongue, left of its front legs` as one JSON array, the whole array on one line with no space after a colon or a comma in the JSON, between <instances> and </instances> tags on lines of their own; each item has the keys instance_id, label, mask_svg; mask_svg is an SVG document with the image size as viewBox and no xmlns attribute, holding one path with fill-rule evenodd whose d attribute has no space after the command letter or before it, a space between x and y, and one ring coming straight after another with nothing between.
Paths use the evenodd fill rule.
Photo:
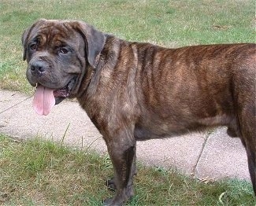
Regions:
<instances>
[{"instance_id":1,"label":"pale concrete slab below dog's tongue, left of its front legs","mask_svg":"<svg viewBox=\"0 0 256 206\"><path fill-rule=\"evenodd\" d=\"M32 109L32 98L20 102L0 114L0 132L20 138L41 136L74 146L87 147L105 152L105 142L77 103L63 101L54 106L48 116L39 116ZM82 145L83 142L83 145Z\"/></svg>"}]
</instances>

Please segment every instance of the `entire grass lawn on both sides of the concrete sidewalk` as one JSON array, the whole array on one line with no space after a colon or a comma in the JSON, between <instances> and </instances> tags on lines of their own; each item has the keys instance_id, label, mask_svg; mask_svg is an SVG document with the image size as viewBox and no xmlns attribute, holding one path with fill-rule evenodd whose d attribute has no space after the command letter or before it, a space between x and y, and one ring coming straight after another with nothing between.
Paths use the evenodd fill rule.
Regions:
<instances>
[{"instance_id":1,"label":"entire grass lawn on both sides of the concrete sidewalk","mask_svg":"<svg viewBox=\"0 0 256 206\"><path fill-rule=\"evenodd\" d=\"M39 18L76 19L129 41L177 47L255 42L254 0L0 0L0 90L31 93L21 35ZM0 134L0 205L101 205L107 156ZM200 182L139 165L128 205L255 205L250 182Z\"/></svg>"}]
</instances>

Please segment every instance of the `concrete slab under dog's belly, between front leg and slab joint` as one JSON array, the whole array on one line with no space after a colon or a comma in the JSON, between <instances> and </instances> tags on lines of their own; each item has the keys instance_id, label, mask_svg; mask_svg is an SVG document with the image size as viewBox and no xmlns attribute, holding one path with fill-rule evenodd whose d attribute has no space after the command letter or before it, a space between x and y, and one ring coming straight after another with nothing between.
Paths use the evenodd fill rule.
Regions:
<instances>
[{"instance_id":1,"label":"concrete slab under dog's belly, between front leg and slab joint","mask_svg":"<svg viewBox=\"0 0 256 206\"><path fill-rule=\"evenodd\" d=\"M187 134L137 142L137 156L144 164L174 167L186 175L192 175L202 152L205 137L205 134Z\"/></svg>"}]
</instances>

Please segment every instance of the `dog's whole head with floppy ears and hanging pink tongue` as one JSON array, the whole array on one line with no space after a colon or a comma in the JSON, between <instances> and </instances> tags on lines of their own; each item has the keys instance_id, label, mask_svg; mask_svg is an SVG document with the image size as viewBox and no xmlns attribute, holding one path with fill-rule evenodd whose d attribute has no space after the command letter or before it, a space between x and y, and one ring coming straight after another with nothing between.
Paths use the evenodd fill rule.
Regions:
<instances>
[{"instance_id":1,"label":"dog's whole head with floppy ears and hanging pink tongue","mask_svg":"<svg viewBox=\"0 0 256 206\"><path fill-rule=\"evenodd\" d=\"M86 68L95 68L106 36L74 20L38 20L22 35L27 79L36 86L34 109L47 115L65 97L76 97Z\"/></svg>"}]
</instances>

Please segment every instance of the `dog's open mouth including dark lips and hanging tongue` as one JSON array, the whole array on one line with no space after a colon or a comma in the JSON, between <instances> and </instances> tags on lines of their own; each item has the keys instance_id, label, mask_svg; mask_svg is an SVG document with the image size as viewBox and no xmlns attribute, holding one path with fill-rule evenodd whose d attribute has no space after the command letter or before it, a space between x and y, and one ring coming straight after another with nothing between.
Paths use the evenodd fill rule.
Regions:
<instances>
[{"instance_id":1,"label":"dog's open mouth including dark lips and hanging tongue","mask_svg":"<svg viewBox=\"0 0 256 206\"><path fill-rule=\"evenodd\" d=\"M76 77L72 78L66 86L60 89L51 89L37 83L33 99L33 108L35 112L39 115L48 115L54 105L58 105L66 97L69 97L75 83Z\"/></svg>"}]
</instances>

